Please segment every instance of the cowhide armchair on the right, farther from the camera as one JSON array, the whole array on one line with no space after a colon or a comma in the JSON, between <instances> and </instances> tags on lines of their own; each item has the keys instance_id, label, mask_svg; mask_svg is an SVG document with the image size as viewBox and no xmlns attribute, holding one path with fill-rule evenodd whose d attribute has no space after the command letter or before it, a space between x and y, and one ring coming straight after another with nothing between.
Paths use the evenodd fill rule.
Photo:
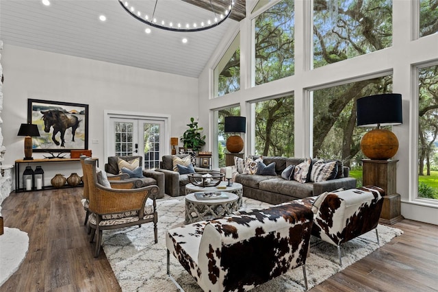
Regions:
<instances>
[{"instance_id":1,"label":"cowhide armchair on the right, farther from the camera","mask_svg":"<svg viewBox=\"0 0 438 292\"><path fill-rule=\"evenodd\" d=\"M339 265L342 243L375 229L380 245L377 225L384 196L383 188L363 186L309 198L315 199L312 235L337 247Z\"/></svg>"}]
</instances>

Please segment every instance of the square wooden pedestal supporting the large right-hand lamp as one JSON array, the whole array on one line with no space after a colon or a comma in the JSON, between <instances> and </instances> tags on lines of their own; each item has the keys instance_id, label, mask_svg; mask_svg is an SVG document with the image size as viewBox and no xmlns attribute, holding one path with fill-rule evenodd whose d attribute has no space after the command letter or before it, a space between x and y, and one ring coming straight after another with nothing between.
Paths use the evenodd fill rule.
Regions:
<instances>
[{"instance_id":1,"label":"square wooden pedestal supporting the large right-hand lamp","mask_svg":"<svg viewBox=\"0 0 438 292\"><path fill-rule=\"evenodd\" d=\"M363 186L379 186L385 191L379 222L395 224L404 219L400 214L400 194L397 193L398 160L363 159Z\"/></svg>"}]
</instances>

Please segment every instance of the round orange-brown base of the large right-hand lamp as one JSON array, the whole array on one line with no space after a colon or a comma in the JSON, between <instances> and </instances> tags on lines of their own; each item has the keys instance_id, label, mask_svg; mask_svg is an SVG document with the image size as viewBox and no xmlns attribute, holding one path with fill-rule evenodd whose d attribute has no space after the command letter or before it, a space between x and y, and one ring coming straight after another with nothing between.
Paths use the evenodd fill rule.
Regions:
<instances>
[{"instance_id":1,"label":"round orange-brown base of the large right-hand lamp","mask_svg":"<svg viewBox=\"0 0 438 292\"><path fill-rule=\"evenodd\" d=\"M362 153L373 160L388 160L396 155L398 139L396 134L385 129L367 132L361 141Z\"/></svg>"}]
</instances>

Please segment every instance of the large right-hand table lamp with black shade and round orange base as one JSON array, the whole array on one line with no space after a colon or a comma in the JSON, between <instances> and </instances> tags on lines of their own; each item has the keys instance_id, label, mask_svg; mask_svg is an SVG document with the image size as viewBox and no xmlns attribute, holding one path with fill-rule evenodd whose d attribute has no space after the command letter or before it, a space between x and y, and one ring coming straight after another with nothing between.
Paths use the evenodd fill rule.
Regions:
<instances>
[{"instance_id":1,"label":"large right-hand table lamp with black shade and round orange base","mask_svg":"<svg viewBox=\"0 0 438 292\"><path fill-rule=\"evenodd\" d=\"M374 127L361 140L363 154L372 160L388 160L396 155L396 134L381 129L385 125L402 124L402 95L387 93L357 99L357 126Z\"/></svg>"}]
</instances>

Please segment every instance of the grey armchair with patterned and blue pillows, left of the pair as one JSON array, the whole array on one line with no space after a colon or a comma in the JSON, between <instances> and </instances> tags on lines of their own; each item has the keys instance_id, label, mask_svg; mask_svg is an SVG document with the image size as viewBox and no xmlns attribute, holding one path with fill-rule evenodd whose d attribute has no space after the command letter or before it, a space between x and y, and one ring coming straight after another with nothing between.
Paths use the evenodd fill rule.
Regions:
<instances>
[{"instance_id":1,"label":"grey armchair with patterned and blue pillows, left of the pair","mask_svg":"<svg viewBox=\"0 0 438 292\"><path fill-rule=\"evenodd\" d=\"M109 156L108 162L105 163L105 172L107 173L108 180L125 180L130 178L128 173L121 173L120 166L129 166L130 162L134 163L134 160L138 160L138 167L142 168L142 156ZM134 187L141 188L143 186L156 185L159 188L157 198L164 197L164 174L153 169L142 169L141 174L144 178L137 177L138 180L136 180Z\"/></svg>"}]
</instances>

